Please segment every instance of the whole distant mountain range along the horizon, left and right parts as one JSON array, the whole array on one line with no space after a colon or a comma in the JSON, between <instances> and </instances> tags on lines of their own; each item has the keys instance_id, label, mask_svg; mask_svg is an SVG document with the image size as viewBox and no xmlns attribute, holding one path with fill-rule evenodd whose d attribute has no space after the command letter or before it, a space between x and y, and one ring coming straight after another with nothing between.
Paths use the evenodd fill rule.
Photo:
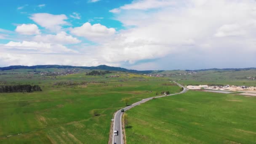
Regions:
<instances>
[{"instance_id":1,"label":"whole distant mountain range along the horizon, left and right parts","mask_svg":"<svg viewBox=\"0 0 256 144\"><path fill-rule=\"evenodd\" d=\"M121 67L110 67L107 65L99 65L96 67L77 67L77 66L65 66L65 65L36 65L36 66L9 66L9 67L0 67L0 70L10 70L10 69L48 69L48 68L58 68L58 69L101 69L101 70L111 70L111 71L123 71L123 72L132 72L132 73L139 73L139 74L147 74L147 73L157 73L157 72L163 72L163 70L134 70L134 69L125 69ZM186 71L242 71L242 70L250 70L256 68L250 67L250 68L227 68L227 69L197 69L197 70L186 70Z\"/></svg>"}]
</instances>

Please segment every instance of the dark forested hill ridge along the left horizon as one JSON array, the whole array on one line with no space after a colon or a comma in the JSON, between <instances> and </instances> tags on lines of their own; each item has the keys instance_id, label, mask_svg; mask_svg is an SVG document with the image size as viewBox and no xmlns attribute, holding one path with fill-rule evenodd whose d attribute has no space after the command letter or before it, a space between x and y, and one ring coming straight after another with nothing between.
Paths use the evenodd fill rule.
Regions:
<instances>
[{"instance_id":1,"label":"dark forested hill ridge along the left horizon","mask_svg":"<svg viewBox=\"0 0 256 144\"><path fill-rule=\"evenodd\" d=\"M64 65L36 65L36 66L9 66L9 67L0 67L0 70L10 70L10 69L47 69L47 68L58 68L58 69L102 69L102 70L111 70L111 71L124 71L124 72L133 72L133 73L151 73L152 70L133 70L125 69L121 67L110 67L106 65L99 65L97 67L77 67L77 66L64 66Z\"/></svg>"}]
</instances>

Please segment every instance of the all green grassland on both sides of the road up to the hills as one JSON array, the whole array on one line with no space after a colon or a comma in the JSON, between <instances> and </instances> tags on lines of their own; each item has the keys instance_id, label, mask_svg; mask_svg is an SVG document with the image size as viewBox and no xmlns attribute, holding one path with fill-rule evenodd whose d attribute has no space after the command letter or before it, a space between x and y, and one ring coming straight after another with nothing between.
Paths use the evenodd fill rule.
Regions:
<instances>
[{"instance_id":1,"label":"all green grassland on both sides of the road up to the hills","mask_svg":"<svg viewBox=\"0 0 256 144\"><path fill-rule=\"evenodd\" d=\"M67 69L37 69L61 72ZM0 143L106 144L113 113L129 104L156 96L161 91L177 93L170 80L188 84L256 85L243 72L198 72L195 75L147 77L128 72L104 76L78 74L42 76L31 69L0 72L0 85L40 85L42 92L0 93ZM185 71L170 71L173 74ZM168 74L169 72L163 72ZM118 78L106 78L120 75ZM56 85L58 82L86 82L84 85ZM128 144L169 143L255 143L256 107L254 97L234 94L188 93L151 100L129 110L131 128ZM93 116L93 110L99 116Z\"/></svg>"}]
</instances>

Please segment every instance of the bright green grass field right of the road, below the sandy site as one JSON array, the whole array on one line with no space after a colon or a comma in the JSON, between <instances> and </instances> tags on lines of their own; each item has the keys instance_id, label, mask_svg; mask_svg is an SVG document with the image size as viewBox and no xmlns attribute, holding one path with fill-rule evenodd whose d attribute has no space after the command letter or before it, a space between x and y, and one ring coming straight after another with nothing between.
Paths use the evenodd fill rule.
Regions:
<instances>
[{"instance_id":1,"label":"bright green grass field right of the road, below the sandy site","mask_svg":"<svg viewBox=\"0 0 256 144\"><path fill-rule=\"evenodd\" d=\"M127 144L255 144L256 97L188 91L128 110Z\"/></svg>"}]
</instances>

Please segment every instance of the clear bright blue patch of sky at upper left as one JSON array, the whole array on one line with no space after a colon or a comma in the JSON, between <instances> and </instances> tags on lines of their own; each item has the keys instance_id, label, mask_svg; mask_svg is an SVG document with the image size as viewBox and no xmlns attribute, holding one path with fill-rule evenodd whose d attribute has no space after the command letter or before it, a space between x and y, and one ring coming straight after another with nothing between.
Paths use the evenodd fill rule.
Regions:
<instances>
[{"instance_id":1,"label":"clear bright blue patch of sky at upper left","mask_svg":"<svg viewBox=\"0 0 256 144\"><path fill-rule=\"evenodd\" d=\"M1 21L1 28L14 30L15 24L33 23L28 18L32 13L66 14L69 16L73 12L77 12L80 13L81 19L72 19L73 26L79 26L79 23L90 21L95 17L103 17L105 19L101 19L101 24L120 29L122 24L112 19L113 14L109 13L109 10L124 5L124 2L130 3L131 0L102 0L95 3L86 0L66 0L62 3L59 0L5 0L0 9L0 16L4 19ZM95 24L97 21L91 23Z\"/></svg>"}]
</instances>

